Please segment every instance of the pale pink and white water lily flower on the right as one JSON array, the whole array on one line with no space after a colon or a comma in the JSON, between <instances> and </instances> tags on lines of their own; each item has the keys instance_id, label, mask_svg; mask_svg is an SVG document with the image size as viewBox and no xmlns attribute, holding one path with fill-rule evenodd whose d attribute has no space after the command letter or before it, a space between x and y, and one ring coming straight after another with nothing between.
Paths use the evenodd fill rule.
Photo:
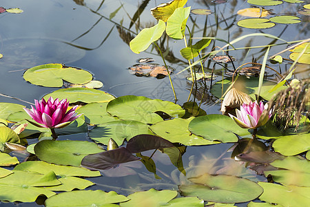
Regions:
<instances>
[{"instance_id":1,"label":"pale pink and white water lily flower on the right","mask_svg":"<svg viewBox=\"0 0 310 207\"><path fill-rule=\"evenodd\" d=\"M271 112L269 112L267 108L267 103L264 106L262 101L260 101L259 104L257 101L250 101L249 104L243 103L243 105L240 106L240 110L236 109L237 117L231 114L229 114L229 116L242 128L256 129L266 124L271 117Z\"/></svg>"}]
</instances>

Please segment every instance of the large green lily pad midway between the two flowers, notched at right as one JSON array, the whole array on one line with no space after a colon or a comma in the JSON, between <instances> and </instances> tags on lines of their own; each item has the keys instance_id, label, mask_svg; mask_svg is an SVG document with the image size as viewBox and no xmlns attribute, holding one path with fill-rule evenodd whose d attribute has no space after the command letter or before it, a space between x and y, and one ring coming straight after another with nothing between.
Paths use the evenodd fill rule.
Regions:
<instances>
[{"instance_id":1,"label":"large green lily pad midway between the two flowers, notched at right","mask_svg":"<svg viewBox=\"0 0 310 207\"><path fill-rule=\"evenodd\" d=\"M107 104L107 112L119 119L141 121L145 124L155 124L163 121L156 112L165 112L170 117L183 117L185 110L170 101L149 99L147 97L123 96Z\"/></svg>"}]
</instances>

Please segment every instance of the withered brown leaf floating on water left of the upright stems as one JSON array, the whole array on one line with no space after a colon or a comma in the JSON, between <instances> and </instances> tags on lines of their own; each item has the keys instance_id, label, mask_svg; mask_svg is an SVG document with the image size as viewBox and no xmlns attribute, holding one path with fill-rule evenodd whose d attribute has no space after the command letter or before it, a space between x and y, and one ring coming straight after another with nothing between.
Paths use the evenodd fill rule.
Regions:
<instances>
[{"instance_id":1,"label":"withered brown leaf floating on water left of the upright stems","mask_svg":"<svg viewBox=\"0 0 310 207\"><path fill-rule=\"evenodd\" d=\"M157 77L162 78L168 75L167 69L165 66L160 66L159 64L136 64L131 66L130 73L133 73L136 76L146 76L146 77ZM174 68L168 66L169 73L171 74L174 71Z\"/></svg>"}]
</instances>

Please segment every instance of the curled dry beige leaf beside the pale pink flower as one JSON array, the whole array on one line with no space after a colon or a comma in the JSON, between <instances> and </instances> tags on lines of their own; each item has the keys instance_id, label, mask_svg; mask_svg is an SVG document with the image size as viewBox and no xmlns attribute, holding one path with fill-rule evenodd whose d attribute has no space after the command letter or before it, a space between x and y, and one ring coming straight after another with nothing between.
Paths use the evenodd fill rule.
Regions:
<instances>
[{"instance_id":1,"label":"curled dry beige leaf beside the pale pink flower","mask_svg":"<svg viewBox=\"0 0 310 207\"><path fill-rule=\"evenodd\" d=\"M220 107L220 111L225 114L227 110L231 110L233 108L238 108L243 103L249 103L251 98L245 92L237 90L236 88L231 88L229 92L224 97L222 102L222 106Z\"/></svg>"}]
</instances>

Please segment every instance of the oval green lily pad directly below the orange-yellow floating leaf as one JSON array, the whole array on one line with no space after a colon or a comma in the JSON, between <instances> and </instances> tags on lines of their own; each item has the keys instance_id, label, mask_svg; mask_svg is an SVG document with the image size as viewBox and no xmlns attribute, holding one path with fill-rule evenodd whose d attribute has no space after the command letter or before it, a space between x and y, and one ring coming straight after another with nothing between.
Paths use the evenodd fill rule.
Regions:
<instances>
[{"instance_id":1,"label":"oval green lily pad directly below the orange-yellow floating leaf","mask_svg":"<svg viewBox=\"0 0 310 207\"><path fill-rule=\"evenodd\" d=\"M282 1L276 1L281 2ZM237 25L242 28L249 28L249 29L265 29L265 28L272 28L275 26L275 23L269 22L269 19L242 19L237 22Z\"/></svg>"}]
</instances>

